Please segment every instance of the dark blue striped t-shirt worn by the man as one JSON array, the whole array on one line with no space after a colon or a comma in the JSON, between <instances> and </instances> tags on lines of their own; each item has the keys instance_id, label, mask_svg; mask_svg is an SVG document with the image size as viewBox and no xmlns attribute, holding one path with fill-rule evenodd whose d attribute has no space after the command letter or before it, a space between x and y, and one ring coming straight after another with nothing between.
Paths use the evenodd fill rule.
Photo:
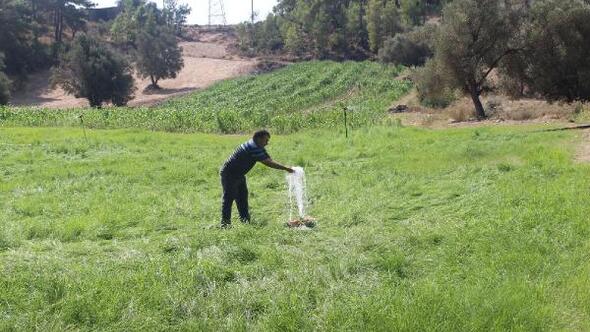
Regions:
<instances>
[{"instance_id":1,"label":"dark blue striped t-shirt worn by the man","mask_svg":"<svg viewBox=\"0 0 590 332\"><path fill-rule=\"evenodd\" d=\"M257 161L263 161L270 158L266 150L259 147L250 139L246 143L240 144L236 151L221 166L221 174L231 177L240 177L246 175Z\"/></svg>"}]
</instances>

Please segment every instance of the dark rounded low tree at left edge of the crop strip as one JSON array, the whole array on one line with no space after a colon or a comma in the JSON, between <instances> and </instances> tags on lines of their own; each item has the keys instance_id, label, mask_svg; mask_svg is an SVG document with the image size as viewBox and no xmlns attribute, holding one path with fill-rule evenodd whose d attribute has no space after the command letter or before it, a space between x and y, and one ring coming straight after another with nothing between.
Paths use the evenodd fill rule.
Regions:
<instances>
[{"instance_id":1,"label":"dark rounded low tree at left edge of the crop strip","mask_svg":"<svg viewBox=\"0 0 590 332\"><path fill-rule=\"evenodd\" d=\"M53 69L51 81L76 98L88 99L92 107L101 107L107 101L122 106L133 98L129 63L86 34L76 37Z\"/></svg>"}]
</instances>

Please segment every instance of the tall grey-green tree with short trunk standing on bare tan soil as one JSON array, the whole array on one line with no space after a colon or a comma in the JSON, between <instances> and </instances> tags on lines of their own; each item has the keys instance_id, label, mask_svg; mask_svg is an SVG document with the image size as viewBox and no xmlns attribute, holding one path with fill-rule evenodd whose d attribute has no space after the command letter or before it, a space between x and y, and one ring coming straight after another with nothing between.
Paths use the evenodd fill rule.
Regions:
<instances>
[{"instance_id":1,"label":"tall grey-green tree with short trunk standing on bare tan soil","mask_svg":"<svg viewBox=\"0 0 590 332\"><path fill-rule=\"evenodd\" d=\"M139 30L136 44L136 66L142 77L149 77L152 88L158 81L175 78L184 66L182 48L178 46L172 29L162 24L161 12L153 3L138 8L136 21Z\"/></svg>"}]
</instances>

